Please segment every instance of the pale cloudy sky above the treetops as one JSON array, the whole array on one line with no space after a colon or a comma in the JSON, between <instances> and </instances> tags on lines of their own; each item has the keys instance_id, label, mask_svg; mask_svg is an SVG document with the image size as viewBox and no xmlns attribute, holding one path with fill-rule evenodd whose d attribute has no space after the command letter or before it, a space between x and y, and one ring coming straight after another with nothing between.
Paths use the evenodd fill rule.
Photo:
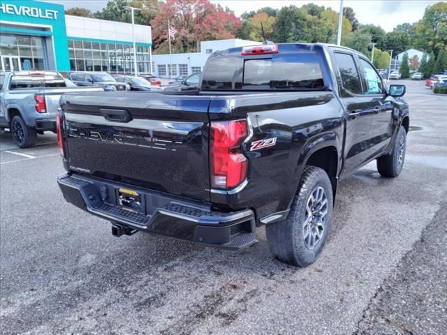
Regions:
<instances>
[{"instance_id":1,"label":"pale cloudy sky above the treetops","mask_svg":"<svg viewBox=\"0 0 447 335\"><path fill-rule=\"evenodd\" d=\"M107 0L43 0L45 2L61 3L66 9L71 7L85 7L96 12L105 7ZM319 6L330 7L339 11L338 0L210 0L219 3L223 8L228 7L240 16L244 12L270 6L281 8L284 6L302 6L305 3L315 3ZM427 6L437 3L436 0L344 0L345 7L353 8L358 22L362 24L378 24L385 31L393 31L397 24L413 23L420 20Z\"/></svg>"}]
</instances>

